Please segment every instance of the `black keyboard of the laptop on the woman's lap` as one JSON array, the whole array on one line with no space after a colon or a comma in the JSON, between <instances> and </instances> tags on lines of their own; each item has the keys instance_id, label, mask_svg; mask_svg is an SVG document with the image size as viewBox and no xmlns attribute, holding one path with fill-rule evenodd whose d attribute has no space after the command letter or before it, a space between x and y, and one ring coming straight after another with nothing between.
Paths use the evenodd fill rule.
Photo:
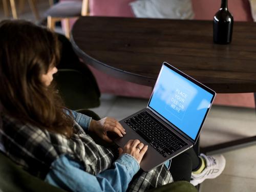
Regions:
<instances>
[{"instance_id":1,"label":"black keyboard of the laptop on the woman's lap","mask_svg":"<svg viewBox=\"0 0 256 192\"><path fill-rule=\"evenodd\" d=\"M158 120L146 111L124 122L132 127L145 141L150 143L163 157L172 155L181 147L187 145L186 142L162 126Z\"/></svg>"}]
</instances>

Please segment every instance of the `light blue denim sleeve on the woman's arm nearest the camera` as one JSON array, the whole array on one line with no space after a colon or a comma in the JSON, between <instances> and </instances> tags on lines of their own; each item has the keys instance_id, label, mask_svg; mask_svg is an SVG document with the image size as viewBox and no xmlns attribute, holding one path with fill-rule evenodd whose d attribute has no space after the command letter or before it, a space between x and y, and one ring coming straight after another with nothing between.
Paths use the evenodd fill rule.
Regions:
<instances>
[{"instance_id":1,"label":"light blue denim sleeve on the woman's arm nearest the camera","mask_svg":"<svg viewBox=\"0 0 256 192\"><path fill-rule=\"evenodd\" d=\"M84 172L80 163L63 155L52 163L45 181L68 191L126 191L139 168L134 157L123 154L113 163L113 168L94 176Z\"/></svg>"}]
</instances>

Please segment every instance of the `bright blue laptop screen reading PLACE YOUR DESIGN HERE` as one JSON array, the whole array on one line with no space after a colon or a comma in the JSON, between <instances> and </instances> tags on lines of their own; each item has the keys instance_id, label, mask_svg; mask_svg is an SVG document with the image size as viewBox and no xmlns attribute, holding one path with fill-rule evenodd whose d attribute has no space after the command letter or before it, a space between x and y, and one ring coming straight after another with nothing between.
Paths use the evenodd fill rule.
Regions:
<instances>
[{"instance_id":1,"label":"bright blue laptop screen reading PLACE YOUR DESIGN HERE","mask_svg":"<svg viewBox=\"0 0 256 192\"><path fill-rule=\"evenodd\" d=\"M195 140L213 96L163 66L148 105Z\"/></svg>"}]
</instances>

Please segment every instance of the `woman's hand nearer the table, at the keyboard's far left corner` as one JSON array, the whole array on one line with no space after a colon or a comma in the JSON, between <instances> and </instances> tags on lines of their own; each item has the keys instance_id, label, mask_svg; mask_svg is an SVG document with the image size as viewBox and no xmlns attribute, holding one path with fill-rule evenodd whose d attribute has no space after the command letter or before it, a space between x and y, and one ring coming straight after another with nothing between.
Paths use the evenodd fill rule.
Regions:
<instances>
[{"instance_id":1,"label":"woman's hand nearer the table, at the keyboard's far left corner","mask_svg":"<svg viewBox=\"0 0 256 192\"><path fill-rule=\"evenodd\" d=\"M96 133L96 135L107 142L113 141L108 137L106 132L114 132L120 137L123 137L123 135L126 134L122 125L116 119L111 117L105 117L98 121L92 119L89 131Z\"/></svg>"}]
</instances>

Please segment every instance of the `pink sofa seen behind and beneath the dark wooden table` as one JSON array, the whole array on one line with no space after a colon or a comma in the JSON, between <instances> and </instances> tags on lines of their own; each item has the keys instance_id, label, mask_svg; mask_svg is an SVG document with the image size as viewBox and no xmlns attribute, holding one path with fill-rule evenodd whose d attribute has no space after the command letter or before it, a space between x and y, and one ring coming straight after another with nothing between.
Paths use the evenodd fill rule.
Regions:
<instances>
[{"instance_id":1,"label":"pink sofa seen behind and beneath the dark wooden table","mask_svg":"<svg viewBox=\"0 0 256 192\"><path fill-rule=\"evenodd\" d=\"M90 0L90 15L134 17L131 7L129 6L129 3L133 1L134 0ZM192 2L195 19L201 20L212 20L221 4L221 1L213 0L192 0ZM253 20L248 0L228 1L228 8L233 14L234 20ZM94 73L102 93L140 98L149 98L151 95L151 87L116 79L94 69L93 67L90 67L90 69ZM255 107L252 93L218 94L215 99L215 104L245 106L248 108Z\"/></svg>"}]
</instances>

